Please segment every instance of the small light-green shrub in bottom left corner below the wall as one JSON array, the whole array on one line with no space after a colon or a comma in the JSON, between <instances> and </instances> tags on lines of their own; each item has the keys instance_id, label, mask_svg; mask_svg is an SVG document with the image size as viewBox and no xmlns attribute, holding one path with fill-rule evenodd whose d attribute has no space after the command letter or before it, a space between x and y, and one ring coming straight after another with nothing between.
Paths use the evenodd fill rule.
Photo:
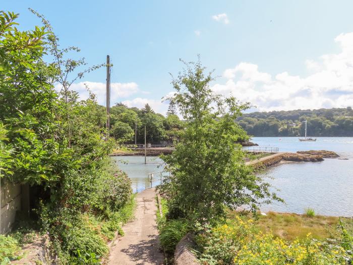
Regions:
<instances>
[{"instance_id":1,"label":"small light-green shrub in bottom left corner below the wall","mask_svg":"<svg viewBox=\"0 0 353 265\"><path fill-rule=\"evenodd\" d=\"M17 240L11 236L0 235L0 263L2 265L10 263L11 260L19 259L20 250Z\"/></svg>"}]
</instances>

